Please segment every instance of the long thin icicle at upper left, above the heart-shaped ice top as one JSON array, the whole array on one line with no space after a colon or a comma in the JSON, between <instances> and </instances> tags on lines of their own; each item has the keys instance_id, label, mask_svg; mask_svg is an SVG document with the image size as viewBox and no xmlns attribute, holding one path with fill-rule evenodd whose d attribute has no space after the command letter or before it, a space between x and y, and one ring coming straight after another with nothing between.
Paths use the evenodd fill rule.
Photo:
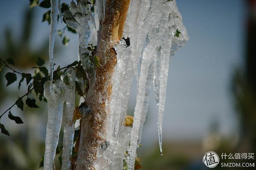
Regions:
<instances>
[{"instance_id":1,"label":"long thin icicle at upper left, above the heart-shaped ice top","mask_svg":"<svg viewBox=\"0 0 256 170\"><path fill-rule=\"evenodd\" d=\"M49 35L50 81L53 79L53 49L58 25L58 0L51 0L51 28Z\"/></svg>"}]
</instances>

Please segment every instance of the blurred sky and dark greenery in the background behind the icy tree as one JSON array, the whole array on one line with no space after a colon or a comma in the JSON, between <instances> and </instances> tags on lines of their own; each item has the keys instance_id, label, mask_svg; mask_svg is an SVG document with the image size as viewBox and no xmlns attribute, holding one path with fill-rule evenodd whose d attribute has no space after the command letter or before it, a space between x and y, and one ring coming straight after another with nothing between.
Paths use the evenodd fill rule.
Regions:
<instances>
[{"instance_id":1,"label":"blurred sky and dark greenery in the background behind the icy tree","mask_svg":"<svg viewBox=\"0 0 256 170\"><path fill-rule=\"evenodd\" d=\"M170 61L163 156L158 149L157 105L151 95L143 146L138 149L143 170L204 170L207 151L219 156L256 153L256 0L177 0L177 6L190 40ZM37 57L48 59L49 25L42 22L47 10L29 8L29 0L1 2L0 58L14 59L17 71L33 73ZM59 23L58 29L64 27ZM55 42L55 63L61 66L78 58L78 35L65 34L69 45L64 46L60 37ZM20 91L17 82L5 87L8 71L0 72L0 113L26 93L25 81ZM134 81L131 114L135 101ZM24 107L23 112L12 108L24 124L15 124L7 114L1 118L10 136L0 133L0 170L39 169L47 104L37 101L37 105L40 108Z\"/></svg>"}]
</instances>

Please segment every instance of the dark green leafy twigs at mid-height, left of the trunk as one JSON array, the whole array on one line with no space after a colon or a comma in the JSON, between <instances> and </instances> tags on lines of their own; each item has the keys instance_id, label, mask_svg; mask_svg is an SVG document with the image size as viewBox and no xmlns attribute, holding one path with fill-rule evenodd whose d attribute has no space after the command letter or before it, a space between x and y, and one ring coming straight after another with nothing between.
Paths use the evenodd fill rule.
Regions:
<instances>
[{"instance_id":1,"label":"dark green leafy twigs at mid-height, left of the trunk","mask_svg":"<svg viewBox=\"0 0 256 170\"><path fill-rule=\"evenodd\" d=\"M95 48L96 47L91 46L90 49L93 50ZM32 68L32 69L35 69L34 75L32 76L30 73L20 73L18 71L15 71L14 68L11 68L8 64L14 64L13 60L11 60L11 59L9 59L8 61L7 60L4 61L2 59L0 60L0 64L2 67L6 66L6 68L9 68L14 72L14 73L8 72L5 75L6 80L7 80L7 85L10 85L13 82L15 82L17 80L16 74L19 74L21 76L21 78L18 83L18 88L20 89L21 82L23 82L24 79L26 79L26 85L28 86L27 93L24 94L23 96L19 97L10 108L8 108L3 114L1 114L0 119L5 113L7 113L7 111L9 111L8 117L11 120L14 120L18 124L23 123L23 121L20 119L20 117L12 115L11 108L14 105L17 105L17 107L23 111L23 108L24 108L23 97L25 97L25 96L27 96L26 105L29 108L39 108L39 106L36 104L37 99L40 102L43 100L44 100L44 102L47 102L47 99L44 96L44 83L47 80L49 80L49 73L48 73L48 69L46 67L42 66L42 65L44 65L44 63L45 63L44 60L41 59L40 57L38 57L37 65L39 65L39 66ZM63 74L64 71L66 71L67 68L70 68L70 67L74 67L76 70L76 73L77 73L77 71L79 71L79 73L81 74L81 77L83 77L83 79L85 79L84 81L88 82L85 71L81 65L81 61L74 61L70 65L67 65L63 68L58 66L58 68L53 72L53 81L55 82L56 80L61 79L61 74ZM77 84L77 82L76 82L76 84ZM83 94L81 93L81 89L79 88L79 85L76 85L76 86L78 87L78 88L76 88L76 92L79 95L83 96ZM33 95L33 92L34 92L34 94L36 94L36 96ZM5 129L5 127L3 125L1 125L1 132L6 135L9 135L8 131Z\"/></svg>"}]
</instances>

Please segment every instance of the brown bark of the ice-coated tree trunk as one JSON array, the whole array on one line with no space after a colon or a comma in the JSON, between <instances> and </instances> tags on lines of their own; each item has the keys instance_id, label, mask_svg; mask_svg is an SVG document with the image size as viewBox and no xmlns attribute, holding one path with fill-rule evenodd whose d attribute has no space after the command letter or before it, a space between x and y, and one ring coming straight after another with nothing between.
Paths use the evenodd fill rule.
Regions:
<instances>
[{"instance_id":1,"label":"brown bark of the ice-coated tree trunk","mask_svg":"<svg viewBox=\"0 0 256 170\"><path fill-rule=\"evenodd\" d=\"M95 78L90 79L85 102L79 109L82 118L76 170L94 170L97 150L105 142L106 102L111 97L111 77L116 65L113 46L122 38L129 3L129 0L107 0L105 19L99 21L96 50L99 66L95 68Z\"/></svg>"}]
</instances>

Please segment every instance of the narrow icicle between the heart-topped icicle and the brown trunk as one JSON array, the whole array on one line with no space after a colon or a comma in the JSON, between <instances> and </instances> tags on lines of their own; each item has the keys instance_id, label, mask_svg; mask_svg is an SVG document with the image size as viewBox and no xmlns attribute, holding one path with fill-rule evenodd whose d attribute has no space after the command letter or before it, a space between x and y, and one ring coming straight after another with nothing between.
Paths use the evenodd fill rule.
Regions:
<instances>
[{"instance_id":1,"label":"narrow icicle between the heart-topped icicle and the brown trunk","mask_svg":"<svg viewBox=\"0 0 256 170\"><path fill-rule=\"evenodd\" d=\"M64 138L63 138L63 151L62 151L62 165L61 170L70 169L70 157L73 149L74 138L74 122L73 113L75 110L75 71L73 68L68 68L66 73L61 75L62 81L66 84L67 94L65 101L65 113L64 113Z\"/></svg>"}]
</instances>

